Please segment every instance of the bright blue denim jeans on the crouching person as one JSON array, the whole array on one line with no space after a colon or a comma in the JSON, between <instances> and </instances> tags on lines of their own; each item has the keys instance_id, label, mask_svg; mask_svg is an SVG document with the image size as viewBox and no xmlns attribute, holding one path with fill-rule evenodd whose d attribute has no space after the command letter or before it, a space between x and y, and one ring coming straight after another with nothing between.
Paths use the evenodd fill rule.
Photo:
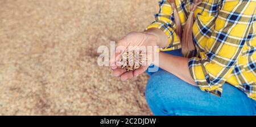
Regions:
<instances>
[{"instance_id":1,"label":"bright blue denim jeans on the crouching person","mask_svg":"<svg viewBox=\"0 0 256 127\"><path fill-rule=\"evenodd\" d=\"M181 56L180 50L167 52ZM146 100L154 115L255 115L256 101L229 83L223 86L221 98L201 91L162 69L148 73Z\"/></svg>"}]
</instances>

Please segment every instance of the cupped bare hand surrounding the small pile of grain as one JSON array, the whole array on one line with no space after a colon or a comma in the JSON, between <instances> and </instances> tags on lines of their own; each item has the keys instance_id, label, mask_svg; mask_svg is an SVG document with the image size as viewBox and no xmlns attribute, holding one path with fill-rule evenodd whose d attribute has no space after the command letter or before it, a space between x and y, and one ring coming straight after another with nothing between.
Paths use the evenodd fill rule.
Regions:
<instances>
[{"instance_id":1,"label":"cupped bare hand surrounding the small pile of grain","mask_svg":"<svg viewBox=\"0 0 256 127\"><path fill-rule=\"evenodd\" d=\"M126 81L127 79L137 77L138 75L144 73L144 71L147 70L151 62L154 61L154 56L156 52L154 50L154 46L156 45L158 45L158 38L154 34L148 32L130 32L128 35L123 37L123 39L118 41L116 49L118 48L118 46L122 46L123 48L125 48L125 50L129 50L131 47L135 47L139 50L146 48L144 52L146 53L147 63L143 64L143 66L139 67L134 71L126 71L126 69L122 69L117 64L120 55L125 52L125 50L122 50L121 52L115 50L114 57L112 57L112 60L110 60L110 66L113 70L113 76L120 77L122 81Z\"/></svg>"}]
</instances>

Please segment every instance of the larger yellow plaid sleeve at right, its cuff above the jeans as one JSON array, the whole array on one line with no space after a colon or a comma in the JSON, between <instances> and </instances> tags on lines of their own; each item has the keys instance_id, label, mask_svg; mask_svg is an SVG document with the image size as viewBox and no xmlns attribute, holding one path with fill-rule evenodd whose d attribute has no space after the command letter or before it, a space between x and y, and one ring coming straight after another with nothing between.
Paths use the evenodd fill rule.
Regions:
<instances>
[{"instance_id":1,"label":"larger yellow plaid sleeve at right, its cuff above the jeans","mask_svg":"<svg viewBox=\"0 0 256 127\"><path fill-rule=\"evenodd\" d=\"M201 90L221 96L226 82L241 55L254 19L255 1L224 1L214 31L201 58L189 60L192 78Z\"/></svg>"}]
</instances>

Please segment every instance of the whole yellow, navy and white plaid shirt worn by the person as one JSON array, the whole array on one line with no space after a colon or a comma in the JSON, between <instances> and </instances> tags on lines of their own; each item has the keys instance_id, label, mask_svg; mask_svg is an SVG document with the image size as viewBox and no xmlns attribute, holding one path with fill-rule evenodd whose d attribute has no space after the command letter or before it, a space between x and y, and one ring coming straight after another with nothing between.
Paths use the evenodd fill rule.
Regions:
<instances>
[{"instance_id":1,"label":"whole yellow, navy and white plaid shirt worn by the person","mask_svg":"<svg viewBox=\"0 0 256 127\"><path fill-rule=\"evenodd\" d=\"M182 26L192 1L176 0ZM166 33L169 45L160 50L181 48L175 33L172 8L159 2L160 11L149 28ZM193 38L200 57L189 59L189 71L201 90L221 96L222 85L232 84L256 100L256 0L203 0L195 10Z\"/></svg>"}]
</instances>

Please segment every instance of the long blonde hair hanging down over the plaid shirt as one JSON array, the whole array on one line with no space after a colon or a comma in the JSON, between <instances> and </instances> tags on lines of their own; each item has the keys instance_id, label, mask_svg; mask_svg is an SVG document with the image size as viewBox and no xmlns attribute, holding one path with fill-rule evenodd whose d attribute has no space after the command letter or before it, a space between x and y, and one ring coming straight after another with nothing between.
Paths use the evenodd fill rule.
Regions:
<instances>
[{"instance_id":1,"label":"long blonde hair hanging down over the plaid shirt","mask_svg":"<svg viewBox=\"0 0 256 127\"><path fill-rule=\"evenodd\" d=\"M175 0L168 0L170 5L172 6L172 11L174 12L174 20L176 24L175 32L180 39L181 42L181 52L184 57L192 57L196 56L195 54L195 45L193 43L193 35L192 35L192 27L194 23L194 11L196 7L201 3L201 0L193 0L193 3L190 7L190 13L185 24L184 29L182 29L179 14L177 12L177 7L175 5Z\"/></svg>"}]
</instances>

